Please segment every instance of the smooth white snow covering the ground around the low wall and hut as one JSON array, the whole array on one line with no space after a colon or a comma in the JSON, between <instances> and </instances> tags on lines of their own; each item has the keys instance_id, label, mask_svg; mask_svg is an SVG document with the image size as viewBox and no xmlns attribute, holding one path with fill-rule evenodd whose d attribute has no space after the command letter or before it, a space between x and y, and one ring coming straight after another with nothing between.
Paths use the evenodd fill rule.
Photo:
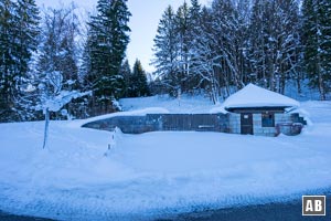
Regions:
<instances>
[{"instance_id":1,"label":"smooth white snow covering the ground around the low wall and hut","mask_svg":"<svg viewBox=\"0 0 331 221\"><path fill-rule=\"evenodd\" d=\"M203 98L125 99L125 109L214 108ZM113 134L52 122L0 124L0 210L60 220L153 219L203 208L291 200L331 188L331 102L303 102L299 136ZM111 149L108 150L108 145Z\"/></svg>"}]
</instances>

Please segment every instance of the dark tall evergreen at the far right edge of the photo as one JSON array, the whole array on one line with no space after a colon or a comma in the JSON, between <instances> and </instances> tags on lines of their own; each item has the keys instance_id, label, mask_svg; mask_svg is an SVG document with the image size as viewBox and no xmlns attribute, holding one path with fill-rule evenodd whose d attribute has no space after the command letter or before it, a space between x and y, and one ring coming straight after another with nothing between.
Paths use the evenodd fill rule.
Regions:
<instances>
[{"instance_id":1,"label":"dark tall evergreen at the far right edge of the photo","mask_svg":"<svg viewBox=\"0 0 331 221\"><path fill-rule=\"evenodd\" d=\"M305 0L302 4L305 64L310 85L327 98L331 82L331 2Z\"/></svg>"}]
</instances>

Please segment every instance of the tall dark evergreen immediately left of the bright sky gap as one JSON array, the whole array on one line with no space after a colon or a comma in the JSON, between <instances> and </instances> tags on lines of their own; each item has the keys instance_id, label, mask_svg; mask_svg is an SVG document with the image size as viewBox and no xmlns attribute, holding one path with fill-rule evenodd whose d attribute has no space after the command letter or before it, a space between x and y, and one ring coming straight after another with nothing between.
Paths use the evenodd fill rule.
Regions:
<instances>
[{"instance_id":1,"label":"tall dark evergreen immediately left of the bright sky gap","mask_svg":"<svg viewBox=\"0 0 331 221\"><path fill-rule=\"evenodd\" d=\"M129 43L130 12L127 0L98 0L97 14L88 23L86 80L94 92L92 105L111 110L111 102L125 95L120 66Z\"/></svg>"}]
</instances>

